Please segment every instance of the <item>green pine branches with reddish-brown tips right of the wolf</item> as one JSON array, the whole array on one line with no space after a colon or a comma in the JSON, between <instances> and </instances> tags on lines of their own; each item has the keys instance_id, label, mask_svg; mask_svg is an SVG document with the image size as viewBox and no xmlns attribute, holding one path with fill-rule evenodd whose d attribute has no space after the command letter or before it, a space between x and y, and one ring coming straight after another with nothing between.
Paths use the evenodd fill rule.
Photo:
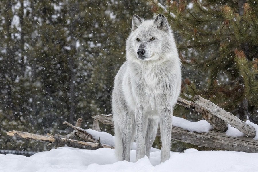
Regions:
<instances>
[{"instance_id":1,"label":"green pine branches with reddish-brown tips right of the wolf","mask_svg":"<svg viewBox=\"0 0 258 172\"><path fill-rule=\"evenodd\" d=\"M258 1L149 0L178 38L183 95L210 99L258 123Z\"/></svg>"}]
</instances>

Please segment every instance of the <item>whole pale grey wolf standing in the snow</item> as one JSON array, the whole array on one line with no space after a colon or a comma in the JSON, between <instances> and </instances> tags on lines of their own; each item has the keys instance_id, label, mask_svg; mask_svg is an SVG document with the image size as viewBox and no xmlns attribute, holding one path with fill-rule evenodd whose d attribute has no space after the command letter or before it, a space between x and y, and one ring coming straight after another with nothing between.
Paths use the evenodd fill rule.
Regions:
<instances>
[{"instance_id":1,"label":"whole pale grey wolf standing in the snow","mask_svg":"<svg viewBox=\"0 0 258 172\"><path fill-rule=\"evenodd\" d=\"M132 17L126 40L126 62L114 79L112 113L118 160L130 161L136 134L136 161L161 133L161 162L170 158L173 108L181 91L181 61L166 17Z\"/></svg>"}]
</instances>

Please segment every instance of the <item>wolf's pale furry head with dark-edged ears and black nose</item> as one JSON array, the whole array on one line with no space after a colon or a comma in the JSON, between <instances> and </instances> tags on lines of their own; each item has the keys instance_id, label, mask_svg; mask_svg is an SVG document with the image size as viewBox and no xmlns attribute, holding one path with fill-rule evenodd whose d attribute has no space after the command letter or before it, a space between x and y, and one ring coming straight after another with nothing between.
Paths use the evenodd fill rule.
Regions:
<instances>
[{"instance_id":1,"label":"wolf's pale furry head with dark-edged ears and black nose","mask_svg":"<svg viewBox=\"0 0 258 172\"><path fill-rule=\"evenodd\" d=\"M126 41L128 60L165 60L173 51L177 51L175 41L164 15L159 14L156 19L146 21L133 15L132 30Z\"/></svg>"}]
</instances>

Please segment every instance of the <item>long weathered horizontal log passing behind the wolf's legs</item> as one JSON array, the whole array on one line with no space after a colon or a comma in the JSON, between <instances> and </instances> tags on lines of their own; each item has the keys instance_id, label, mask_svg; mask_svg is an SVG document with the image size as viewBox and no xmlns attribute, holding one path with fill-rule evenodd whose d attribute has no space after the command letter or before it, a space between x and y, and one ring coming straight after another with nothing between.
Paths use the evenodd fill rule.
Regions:
<instances>
[{"instance_id":1,"label":"long weathered horizontal log passing behind the wolf's legs","mask_svg":"<svg viewBox=\"0 0 258 172\"><path fill-rule=\"evenodd\" d=\"M92 117L103 124L114 125L111 114L94 115ZM160 136L159 128L157 136ZM196 133L172 126L171 139L199 146L220 148L222 150L244 151L249 153L258 152L258 141L253 140L251 137L235 138L227 136L224 132L213 130L210 130L208 133Z\"/></svg>"}]
</instances>

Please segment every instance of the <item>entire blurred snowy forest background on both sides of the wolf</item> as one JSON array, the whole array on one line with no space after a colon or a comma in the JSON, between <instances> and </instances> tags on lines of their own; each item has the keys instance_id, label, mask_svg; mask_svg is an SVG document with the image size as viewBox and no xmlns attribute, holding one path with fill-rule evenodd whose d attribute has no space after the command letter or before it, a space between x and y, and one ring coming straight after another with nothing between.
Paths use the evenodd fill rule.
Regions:
<instances>
[{"instance_id":1,"label":"entire blurred snowy forest background on both sides of the wolf","mask_svg":"<svg viewBox=\"0 0 258 172\"><path fill-rule=\"evenodd\" d=\"M51 147L9 130L68 133L83 117L111 114L113 79L125 61L131 18L163 13L183 62L181 96L199 94L241 120L258 123L258 2L245 0L0 1L0 149ZM199 114L182 107L175 116ZM112 133L108 126L102 131ZM158 140L155 141L160 146ZM171 150L192 145L173 141Z\"/></svg>"}]
</instances>

